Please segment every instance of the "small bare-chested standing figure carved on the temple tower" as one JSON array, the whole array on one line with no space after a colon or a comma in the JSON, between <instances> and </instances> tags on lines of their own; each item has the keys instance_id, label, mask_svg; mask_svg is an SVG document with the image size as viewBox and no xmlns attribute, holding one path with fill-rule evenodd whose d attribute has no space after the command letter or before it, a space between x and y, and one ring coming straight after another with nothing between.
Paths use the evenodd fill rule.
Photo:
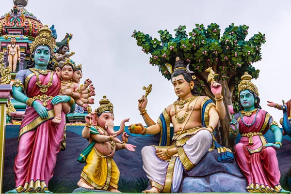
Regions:
<instances>
[{"instance_id":1,"label":"small bare-chested standing figure carved on the temple tower","mask_svg":"<svg viewBox=\"0 0 291 194\"><path fill-rule=\"evenodd\" d=\"M20 61L20 47L16 45L16 38L10 38L10 44L7 46L8 64L13 72L16 71L17 61Z\"/></svg>"}]
</instances>

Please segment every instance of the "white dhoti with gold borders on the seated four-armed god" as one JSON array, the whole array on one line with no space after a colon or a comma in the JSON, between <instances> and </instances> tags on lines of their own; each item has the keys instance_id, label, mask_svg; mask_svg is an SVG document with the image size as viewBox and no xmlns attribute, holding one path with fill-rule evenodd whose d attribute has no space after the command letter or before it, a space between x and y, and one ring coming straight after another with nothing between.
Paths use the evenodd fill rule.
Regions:
<instances>
[{"instance_id":1,"label":"white dhoti with gold borders on the seated four-armed god","mask_svg":"<svg viewBox=\"0 0 291 194\"><path fill-rule=\"evenodd\" d=\"M162 193L177 193L182 181L183 168L192 169L212 146L212 135L207 130L201 130L177 147L178 154L164 161L156 155L156 148L146 146L142 149L143 168L151 185ZM159 147L159 148L168 148ZM174 146L171 146L174 147Z\"/></svg>"}]
</instances>

